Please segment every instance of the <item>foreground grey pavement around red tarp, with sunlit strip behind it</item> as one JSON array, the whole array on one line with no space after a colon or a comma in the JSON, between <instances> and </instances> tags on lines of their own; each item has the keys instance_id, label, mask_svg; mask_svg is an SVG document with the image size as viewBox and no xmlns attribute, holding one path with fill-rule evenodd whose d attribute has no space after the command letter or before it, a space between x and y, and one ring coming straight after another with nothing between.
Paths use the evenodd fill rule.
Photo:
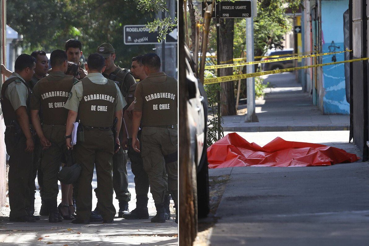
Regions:
<instances>
[{"instance_id":1,"label":"foreground grey pavement around red tarp, with sunlit strip behind it","mask_svg":"<svg viewBox=\"0 0 369 246\"><path fill-rule=\"evenodd\" d=\"M324 143L361 157L348 131L239 133L265 145L276 136ZM369 163L325 167L233 167L210 245L368 245Z\"/></svg>"}]
</instances>

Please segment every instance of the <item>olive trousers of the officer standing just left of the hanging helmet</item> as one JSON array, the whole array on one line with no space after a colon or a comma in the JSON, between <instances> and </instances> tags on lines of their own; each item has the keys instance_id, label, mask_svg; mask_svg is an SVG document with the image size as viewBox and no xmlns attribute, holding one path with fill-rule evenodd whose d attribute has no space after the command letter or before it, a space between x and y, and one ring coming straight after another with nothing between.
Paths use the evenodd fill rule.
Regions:
<instances>
[{"instance_id":1,"label":"olive trousers of the officer standing just left of the hanging helmet","mask_svg":"<svg viewBox=\"0 0 369 246\"><path fill-rule=\"evenodd\" d=\"M65 125L42 125L45 137L51 142L48 149L43 150L41 171L43 173L42 199L55 200L58 197L58 172L62 156L68 151L65 145Z\"/></svg>"}]
</instances>

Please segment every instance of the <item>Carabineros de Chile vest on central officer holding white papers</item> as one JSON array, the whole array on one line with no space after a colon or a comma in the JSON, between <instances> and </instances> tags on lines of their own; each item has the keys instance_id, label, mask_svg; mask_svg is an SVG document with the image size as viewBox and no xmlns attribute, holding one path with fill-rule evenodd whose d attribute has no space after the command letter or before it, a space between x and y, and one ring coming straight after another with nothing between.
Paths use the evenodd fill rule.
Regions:
<instances>
[{"instance_id":1,"label":"Carabineros de Chile vest on central officer holding white papers","mask_svg":"<svg viewBox=\"0 0 369 246\"><path fill-rule=\"evenodd\" d=\"M78 117L87 127L111 127L117 105L117 87L113 80L95 84L89 78L82 81L83 96L79 103Z\"/></svg>"}]
</instances>

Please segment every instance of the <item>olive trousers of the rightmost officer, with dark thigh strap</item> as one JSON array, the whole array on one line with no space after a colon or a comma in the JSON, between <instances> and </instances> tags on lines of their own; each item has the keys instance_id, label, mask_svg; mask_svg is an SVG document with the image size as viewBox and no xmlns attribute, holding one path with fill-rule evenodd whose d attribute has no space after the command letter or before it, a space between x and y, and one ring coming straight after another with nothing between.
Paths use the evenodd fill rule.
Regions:
<instances>
[{"instance_id":1,"label":"olive trousers of the rightmost officer, with dark thigh strap","mask_svg":"<svg viewBox=\"0 0 369 246\"><path fill-rule=\"evenodd\" d=\"M164 157L178 151L177 130L163 127L143 127L142 160L149 177L150 191L155 203L163 203L167 190L177 204L178 160L165 162ZM168 181L166 181L168 174Z\"/></svg>"}]
</instances>

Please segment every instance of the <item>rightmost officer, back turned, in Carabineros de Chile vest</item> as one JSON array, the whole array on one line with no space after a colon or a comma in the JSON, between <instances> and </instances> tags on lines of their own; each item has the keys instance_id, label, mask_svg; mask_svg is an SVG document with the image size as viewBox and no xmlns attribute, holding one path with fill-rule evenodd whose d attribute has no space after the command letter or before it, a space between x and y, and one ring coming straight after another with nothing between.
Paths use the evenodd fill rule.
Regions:
<instances>
[{"instance_id":1,"label":"rightmost officer, back turned, in Carabineros de Chile vest","mask_svg":"<svg viewBox=\"0 0 369 246\"><path fill-rule=\"evenodd\" d=\"M149 177L156 215L151 222L165 222L164 201L167 190L178 209L177 81L160 72L161 61L155 53L142 58L148 76L136 87L132 121L132 147L142 145L142 160ZM142 141L137 138L142 121ZM168 182L165 176L168 174ZM177 219L176 219L177 221Z\"/></svg>"}]
</instances>

